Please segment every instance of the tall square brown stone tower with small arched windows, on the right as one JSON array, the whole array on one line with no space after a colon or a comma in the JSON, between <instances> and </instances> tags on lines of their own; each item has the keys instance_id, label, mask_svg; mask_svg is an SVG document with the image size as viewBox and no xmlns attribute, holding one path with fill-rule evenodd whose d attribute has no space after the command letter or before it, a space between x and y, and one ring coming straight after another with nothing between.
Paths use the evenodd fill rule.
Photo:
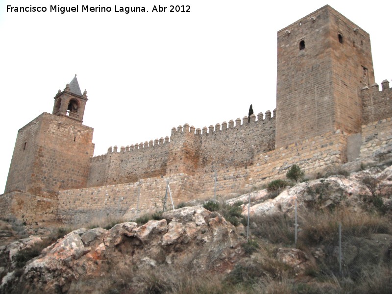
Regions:
<instances>
[{"instance_id":1,"label":"tall square brown stone tower with small arched windows, on the right","mask_svg":"<svg viewBox=\"0 0 392 294\"><path fill-rule=\"evenodd\" d=\"M326 5L277 33L276 147L361 129L374 83L369 34Z\"/></svg>"}]
</instances>

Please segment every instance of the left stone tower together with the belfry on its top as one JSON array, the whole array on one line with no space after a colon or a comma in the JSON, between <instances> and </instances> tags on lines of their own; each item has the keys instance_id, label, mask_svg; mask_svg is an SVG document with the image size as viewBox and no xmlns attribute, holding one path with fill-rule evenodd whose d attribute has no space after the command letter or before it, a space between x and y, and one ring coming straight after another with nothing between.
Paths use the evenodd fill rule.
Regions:
<instances>
[{"instance_id":1,"label":"left stone tower together with the belfry on its top","mask_svg":"<svg viewBox=\"0 0 392 294\"><path fill-rule=\"evenodd\" d=\"M82 124L86 94L75 75L54 97L52 114L18 131L5 193L55 198L56 191L86 187L94 153L94 129Z\"/></svg>"}]
</instances>

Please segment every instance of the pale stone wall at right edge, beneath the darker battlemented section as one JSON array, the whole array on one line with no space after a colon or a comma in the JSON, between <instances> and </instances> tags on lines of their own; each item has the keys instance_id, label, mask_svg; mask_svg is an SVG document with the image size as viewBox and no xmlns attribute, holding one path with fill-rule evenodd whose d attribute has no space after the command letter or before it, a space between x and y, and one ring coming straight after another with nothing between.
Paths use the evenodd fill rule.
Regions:
<instances>
[{"instance_id":1,"label":"pale stone wall at right edge, beneath the darker battlemented section","mask_svg":"<svg viewBox=\"0 0 392 294\"><path fill-rule=\"evenodd\" d=\"M381 148L392 149L392 118L383 119L362 126L361 160L383 159L377 158L377 151Z\"/></svg>"}]
</instances>

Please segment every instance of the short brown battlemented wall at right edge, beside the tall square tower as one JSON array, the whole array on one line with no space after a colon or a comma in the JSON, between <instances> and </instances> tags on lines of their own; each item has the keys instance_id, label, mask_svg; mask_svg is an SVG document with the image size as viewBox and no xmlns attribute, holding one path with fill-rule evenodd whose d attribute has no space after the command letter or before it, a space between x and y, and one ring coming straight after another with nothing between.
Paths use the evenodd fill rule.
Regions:
<instances>
[{"instance_id":1,"label":"short brown battlemented wall at right edge, beside the tall square tower","mask_svg":"<svg viewBox=\"0 0 392 294\"><path fill-rule=\"evenodd\" d=\"M392 117L392 88L388 80L381 86L382 91L377 84L362 90L363 124Z\"/></svg>"}]
</instances>

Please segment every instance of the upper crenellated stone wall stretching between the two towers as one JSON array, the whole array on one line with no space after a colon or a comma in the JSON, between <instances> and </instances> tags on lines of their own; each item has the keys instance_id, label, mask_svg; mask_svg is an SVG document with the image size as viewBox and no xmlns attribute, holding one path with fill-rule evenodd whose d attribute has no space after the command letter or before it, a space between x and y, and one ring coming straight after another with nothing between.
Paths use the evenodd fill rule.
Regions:
<instances>
[{"instance_id":1,"label":"upper crenellated stone wall stretching between the two towers","mask_svg":"<svg viewBox=\"0 0 392 294\"><path fill-rule=\"evenodd\" d=\"M91 159L87 187L136 182L139 179L186 172L195 175L221 167L252 165L260 152L274 149L275 114L270 111L222 125L201 129L185 124L172 129L170 137L110 147Z\"/></svg>"}]
</instances>

